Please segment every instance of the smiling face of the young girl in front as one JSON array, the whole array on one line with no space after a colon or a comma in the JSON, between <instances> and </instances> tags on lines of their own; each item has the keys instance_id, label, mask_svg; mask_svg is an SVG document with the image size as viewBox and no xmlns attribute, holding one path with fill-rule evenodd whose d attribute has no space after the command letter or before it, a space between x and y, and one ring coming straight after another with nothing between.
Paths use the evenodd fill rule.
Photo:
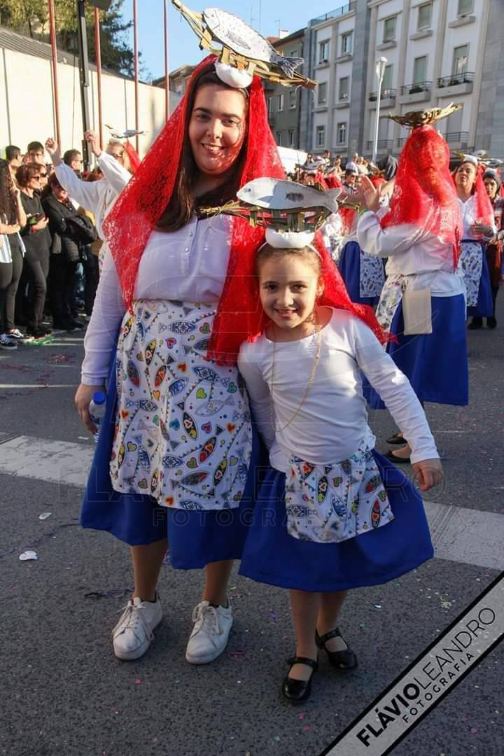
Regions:
<instances>
[{"instance_id":1,"label":"smiling face of the young girl in front","mask_svg":"<svg viewBox=\"0 0 504 756\"><path fill-rule=\"evenodd\" d=\"M317 296L322 288L315 253L284 253L260 259L258 283L267 317L291 336L311 333Z\"/></svg>"}]
</instances>

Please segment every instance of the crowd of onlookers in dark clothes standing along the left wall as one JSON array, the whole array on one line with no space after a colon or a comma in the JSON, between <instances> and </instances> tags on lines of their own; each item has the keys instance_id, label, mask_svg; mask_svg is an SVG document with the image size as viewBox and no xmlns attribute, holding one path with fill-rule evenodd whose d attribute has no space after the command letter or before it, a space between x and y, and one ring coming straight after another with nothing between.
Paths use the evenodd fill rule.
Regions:
<instances>
[{"instance_id":1,"label":"crowd of onlookers in dark clothes standing along the left wall","mask_svg":"<svg viewBox=\"0 0 504 756\"><path fill-rule=\"evenodd\" d=\"M91 171L53 139L24 153L8 145L0 160L0 349L82 329L91 316L102 224L131 169L120 141L102 152L94 132L85 138Z\"/></svg>"}]
</instances>

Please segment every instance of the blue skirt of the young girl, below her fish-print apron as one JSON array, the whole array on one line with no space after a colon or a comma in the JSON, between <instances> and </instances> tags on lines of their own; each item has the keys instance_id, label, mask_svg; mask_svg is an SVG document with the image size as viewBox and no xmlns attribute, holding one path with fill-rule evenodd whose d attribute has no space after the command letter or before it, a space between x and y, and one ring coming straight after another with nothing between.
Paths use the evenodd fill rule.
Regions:
<instances>
[{"instance_id":1,"label":"blue skirt of the young girl, below her fish-print apron","mask_svg":"<svg viewBox=\"0 0 504 756\"><path fill-rule=\"evenodd\" d=\"M283 472L267 472L243 550L240 574L298 590L347 590L386 583L434 556L422 499L391 462L373 451L394 519L342 541L317 544L287 535Z\"/></svg>"}]
</instances>

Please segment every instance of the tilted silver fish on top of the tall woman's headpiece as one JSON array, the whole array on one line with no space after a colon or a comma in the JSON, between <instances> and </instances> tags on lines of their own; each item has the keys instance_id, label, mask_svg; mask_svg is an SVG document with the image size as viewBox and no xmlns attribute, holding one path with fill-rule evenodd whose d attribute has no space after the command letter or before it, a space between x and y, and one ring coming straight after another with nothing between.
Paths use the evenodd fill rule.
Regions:
<instances>
[{"instance_id":1,"label":"tilted silver fish on top of the tall woman's headpiece","mask_svg":"<svg viewBox=\"0 0 504 756\"><path fill-rule=\"evenodd\" d=\"M241 18L220 8L206 8L203 20L212 36L233 52L252 60L262 60L283 70L289 79L303 63L302 57L285 57Z\"/></svg>"}]
</instances>

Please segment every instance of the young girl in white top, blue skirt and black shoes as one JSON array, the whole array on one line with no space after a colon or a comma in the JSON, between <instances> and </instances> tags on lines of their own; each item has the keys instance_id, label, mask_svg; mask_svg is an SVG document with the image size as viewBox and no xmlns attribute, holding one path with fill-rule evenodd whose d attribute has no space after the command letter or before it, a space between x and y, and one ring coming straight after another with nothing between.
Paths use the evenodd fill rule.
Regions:
<instances>
[{"instance_id":1,"label":"young girl in white top, blue skirt and black shoes","mask_svg":"<svg viewBox=\"0 0 504 756\"><path fill-rule=\"evenodd\" d=\"M295 236L268 229L271 243L258 251L268 322L242 345L238 365L271 463L240 572L291 590L296 648L282 690L299 703L310 696L317 649L335 668L357 666L336 627L346 591L397 578L433 555L419 494L374 450L360 370L411 439L422 491L441 479L441 463L422 406L376 338L372 311L349 301L318 241L286 249Z\"/></svg>"}]
</instances>

